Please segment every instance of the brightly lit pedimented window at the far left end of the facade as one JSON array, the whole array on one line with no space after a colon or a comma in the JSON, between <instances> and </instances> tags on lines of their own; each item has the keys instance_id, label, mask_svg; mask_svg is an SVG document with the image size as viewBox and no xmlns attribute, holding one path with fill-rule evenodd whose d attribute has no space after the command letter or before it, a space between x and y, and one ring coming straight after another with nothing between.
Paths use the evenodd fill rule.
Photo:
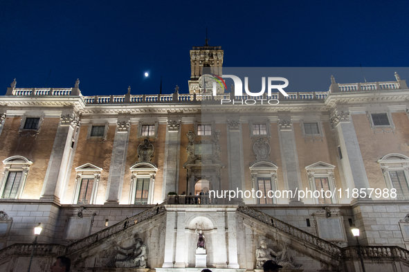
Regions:
<instances>
[{"instance_id":1,"label":"brightly lit pedimented window at the far left end of the facade","mask_svg":"<svg viewBox=\"0 0 409 272\"><path fill-rule=\"evenodd\" d=\"M23 194L28 170L33 162L24 156L11 156L3 163L5 170L0 183L0 196L2 199L19 199Z\"/></svg>"}]
</instances>

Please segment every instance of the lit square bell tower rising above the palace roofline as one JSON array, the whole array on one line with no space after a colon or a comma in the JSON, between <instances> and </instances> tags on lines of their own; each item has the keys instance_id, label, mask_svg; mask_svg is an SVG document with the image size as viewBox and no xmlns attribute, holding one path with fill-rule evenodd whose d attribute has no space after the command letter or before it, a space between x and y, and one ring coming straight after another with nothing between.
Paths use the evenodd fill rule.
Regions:
<instances>
[{"instance_id":1,"label":"lit square bell tower rising above the palace roofline","mask_svg":"<svg viewBox=\"0 0 409 272\"><path fill-rule=\"evenodd\" d=\"M203 67L210 67L210 73L221 75L223 66L223 50L221 46L210 46L208 44L206 30L206 44L204 46L193 46L190 51L190 80L189 93L201 93L199 78Z\"/></svg>"}]
</instances>

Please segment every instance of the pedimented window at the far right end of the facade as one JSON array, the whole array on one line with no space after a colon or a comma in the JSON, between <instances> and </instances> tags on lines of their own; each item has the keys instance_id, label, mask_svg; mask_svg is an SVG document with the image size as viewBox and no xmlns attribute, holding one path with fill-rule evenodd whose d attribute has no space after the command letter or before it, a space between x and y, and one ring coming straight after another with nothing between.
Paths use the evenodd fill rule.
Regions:
<instances>
[{"instance_id":1,"label":"pedimented window at the far right end of the facade","mask_svg":"<svg viewBox=\"0 0 409 272\"><path fill-rule=\"evenodd\" d=\"M396 199L409 199L409 157L392 153L378 160L381 165L386 187L397 190Z\"/></svg>"}]
</instances>

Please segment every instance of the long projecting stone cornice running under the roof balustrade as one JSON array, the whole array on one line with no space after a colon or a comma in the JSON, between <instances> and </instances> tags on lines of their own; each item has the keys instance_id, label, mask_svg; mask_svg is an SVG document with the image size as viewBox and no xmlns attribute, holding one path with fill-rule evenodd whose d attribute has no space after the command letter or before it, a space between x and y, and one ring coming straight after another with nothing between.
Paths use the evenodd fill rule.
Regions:
<instances>
[{"instance_id":1,"label":"long projecting stone cornice running under the roof balustrade","mask_svg":"<svg viewBox=\"0 0 409 272\"><path fill-rule=\"evenodd\" d=\"M278 105L219 105L217 102L153 102L131 104L85 104L80 96L0 96L0 107L7 110L39 111L71 107L80 116L93 115L167 115L167 114L293 114L323 113L328 115L337 107L347 110L355 107L381 104L401 110L409 101L409 89L396 91L354 91L329 93L325 100L284 100ZM397 103L401 104L398 105ZM402 105L404 103L404 105ZM60 109L55 109L60 110Z\"/></svg>"}]
</instances>

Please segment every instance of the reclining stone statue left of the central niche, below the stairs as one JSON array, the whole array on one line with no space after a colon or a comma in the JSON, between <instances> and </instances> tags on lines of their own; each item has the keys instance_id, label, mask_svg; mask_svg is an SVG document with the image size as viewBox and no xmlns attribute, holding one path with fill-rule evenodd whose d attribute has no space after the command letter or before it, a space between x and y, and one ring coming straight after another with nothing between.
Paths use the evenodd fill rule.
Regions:
<instances>
[{"instance_id":1,"label":"reclining stone statue left of the central niche, below the stairs","mask_svg":"<svg viewBox=\"0 0 409 272\"><path fill-rule=\"evenodd\" d=\"M116 268L146 268L146 245L142 239L135 237L135 244L129 247L116 246L117 254L115 259L108 264L109 267Z\"/></svg>"}]
</instances>

